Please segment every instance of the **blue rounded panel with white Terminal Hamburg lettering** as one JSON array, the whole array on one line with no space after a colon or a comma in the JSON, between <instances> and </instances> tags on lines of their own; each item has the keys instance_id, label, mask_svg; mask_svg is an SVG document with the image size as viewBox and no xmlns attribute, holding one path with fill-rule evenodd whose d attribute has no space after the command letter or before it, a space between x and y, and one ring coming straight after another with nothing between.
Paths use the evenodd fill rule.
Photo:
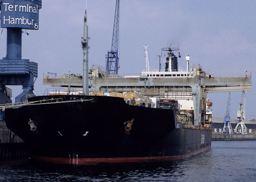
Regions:
<instances>
[{"instance_id":1,"label":"blue rounded panel with white Terminal Hamburg lettering","mask_svg":"<svg viewBox=\"0 0 256 182\"><path fill-rule=\"evenodd\" d=\"M0 0L1 28L38 29L42 0Z\"/></svg>"}]
</instances>

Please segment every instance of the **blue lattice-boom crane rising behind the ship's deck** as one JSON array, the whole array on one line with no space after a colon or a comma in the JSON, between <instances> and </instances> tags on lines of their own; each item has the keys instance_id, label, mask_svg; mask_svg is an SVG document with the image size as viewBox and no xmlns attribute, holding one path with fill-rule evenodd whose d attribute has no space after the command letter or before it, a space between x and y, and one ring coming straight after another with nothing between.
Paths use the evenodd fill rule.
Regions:
<instances>
[{"instance_id":1,"label":"blue lattice-boom crane rising behind the ship's deck","mask_svg":"<svg viewBox=\"0 0 256 182\"><path fill-rule=\"evenodd\" d=\"M118 58L118 31L119 31L119 0L116 0L116 12L114 18L114 28L111 51L106 55L106 74L117 74L119 69Z\"/></svg>"}]
</instances>

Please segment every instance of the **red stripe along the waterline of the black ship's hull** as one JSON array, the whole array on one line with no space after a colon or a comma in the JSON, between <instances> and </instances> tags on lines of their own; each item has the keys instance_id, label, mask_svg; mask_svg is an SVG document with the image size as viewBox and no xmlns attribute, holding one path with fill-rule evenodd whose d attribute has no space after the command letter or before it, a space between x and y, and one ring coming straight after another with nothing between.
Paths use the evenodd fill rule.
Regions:
<instances>
[{"instance_id":1,"label":"red stripe along the waterline of the black ship's hull","mask_svg":"<svg viewBox=\"0 0 256 182\"><path fill-rule=\"evenodd\" d=\"M56 157L40 157L33 156L33 159L43 162L51 162L58 164L79 164L79 165L91 165L101 162L106 163L121 163L121 162L148 162L148 161L168 161L168 160L177 160L188 158L191 155L206 151L210 149L211 146L204 147L200 150L194 151L185 155L174 155L174 156L159 156L159 157L120 157L120 158L56 158Z\"/></svg>"}]
</instances>

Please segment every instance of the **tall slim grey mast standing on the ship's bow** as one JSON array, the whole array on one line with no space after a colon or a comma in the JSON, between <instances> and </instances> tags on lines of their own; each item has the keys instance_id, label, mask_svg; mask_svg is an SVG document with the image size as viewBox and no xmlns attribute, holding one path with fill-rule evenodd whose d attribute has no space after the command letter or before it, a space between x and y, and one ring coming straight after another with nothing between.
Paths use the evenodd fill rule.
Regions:
<instances>
[{"instance_id":1,"label":"tall slim grey mast standing on the ship's bow","mask_svg":"<svg viewBox=\"0 0 256 182\"><path fill-rule=\"evenodd\" d=\"M87 5L86 5L87 6ZM87 8L86 8L87 9ZM83 26L83 37L81 40L83 48L83 95L89 95L89 84L88 84L88 26L87 26L87 13L84 13L84 26Z\"/></svg>"}]
</instances>

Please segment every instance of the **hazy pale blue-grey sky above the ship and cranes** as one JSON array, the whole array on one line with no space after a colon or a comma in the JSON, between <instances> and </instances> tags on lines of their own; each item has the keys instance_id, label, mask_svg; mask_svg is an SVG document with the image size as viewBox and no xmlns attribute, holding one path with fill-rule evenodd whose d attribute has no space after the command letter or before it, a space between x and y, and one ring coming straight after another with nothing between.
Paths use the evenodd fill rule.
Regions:
<instances>
[{"instance_id":1,"label":"hazy pale blue-grey sky above the ship and cranes","mask_svg":"<svg viewBox=\"0 0 256 182\"><path fill-rule=\"evenodd\" d=\"M87 0L89 67L106 67L111 50L115 0ZM83 72L83 16L86 0L42 0L39 29L22 35L22 59L38 63L34 94L43 95L43 73ZM159 68L161 48L180 48L178 66L200 64L214 75L252 72L246 91L246 119L256 119L256 21L255 0L121 0L119 29L120 75L139 74L146 67L144 45L149 46L150 68ZM0 57L6 55L6 29L0 34ZM163 53L164 54L164 53ZM176 53L177 55L177 53ZM164 66L163 58L161 60ZM12 88L12 100L22 86ZM228 92L208 93L214 116L226 114ZM231 92L231 117L236 118L241 91Z\"/></svg>"}]
</instances>

